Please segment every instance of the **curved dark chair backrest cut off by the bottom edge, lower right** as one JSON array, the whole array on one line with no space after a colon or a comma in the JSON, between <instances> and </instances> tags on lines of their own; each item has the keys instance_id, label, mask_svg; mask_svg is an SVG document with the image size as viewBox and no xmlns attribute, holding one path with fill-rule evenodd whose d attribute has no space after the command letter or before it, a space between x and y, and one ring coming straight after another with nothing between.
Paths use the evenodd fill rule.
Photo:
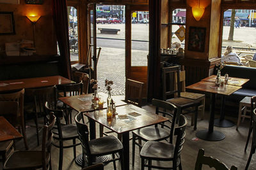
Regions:
<instances>
[{"instance_id":1,"label":"curved dark chair backrest cut off by the bottom edge, lower right","mask_svg":"<svg viewBox=\"0 0 256 170\"><path fill-rule=\"evenodd\" d=\"M216 170L229 170L228 167L220 162L218 159L214 159L213 157L206 157L204 155L204 149L200 149L198 151L196 164L195 164L195 170L201 170L202 165L208 165L209 167L214 167ZM236 170L236 166L232 166L230 170Z\"/></svg>"}]
</instances>

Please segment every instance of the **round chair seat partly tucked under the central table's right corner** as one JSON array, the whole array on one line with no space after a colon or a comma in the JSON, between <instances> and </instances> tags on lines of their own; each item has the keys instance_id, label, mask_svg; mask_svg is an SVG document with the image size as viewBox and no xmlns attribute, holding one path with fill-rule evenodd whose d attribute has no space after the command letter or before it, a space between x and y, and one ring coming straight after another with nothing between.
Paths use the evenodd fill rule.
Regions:
<instances>
[{"instance_id":1,"label":"round chair seat partly tucked under the central table's right corner","mask_svg":"<svg viewBox=\"0 0 256 170\"><path fill-rule=\"evenodd\" d=\"M159 141L166 139L170 136L170 129L163 129L151 126L132 131L132 134L140 136L140 138L144 139L145 141Z\"/></svg>"}]
</instances>

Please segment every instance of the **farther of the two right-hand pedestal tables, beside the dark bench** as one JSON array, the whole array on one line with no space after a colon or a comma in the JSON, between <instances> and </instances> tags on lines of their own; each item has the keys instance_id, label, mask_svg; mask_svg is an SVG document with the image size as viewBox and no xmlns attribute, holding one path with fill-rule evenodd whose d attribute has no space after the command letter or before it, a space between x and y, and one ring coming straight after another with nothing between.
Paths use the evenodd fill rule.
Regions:
<instances>
[{"instance_id":1,"label":"farther of the two right-hand pedestal tables, beside the dark bench","mask_svg":"<svg viewBox=\"0 0 256 170\"><path fill-rule=\"evenodd\" d=\"M221 76L224 78L224 76ZM214 83L216 80L216 75L211 75L207 78L204 78L202 81L209 81ZM247 81L250 79L248 78L236 78L236 77L229 77L228 78L228 85L236 85L236 86L243 86ZM221 95L221 111L220 111L220 118L216 118L214 120L214 125L217 127L232 127L234 126L234 122L225 119L224 107L225 107L225 95Z\"/></svg>"}]
</instances>

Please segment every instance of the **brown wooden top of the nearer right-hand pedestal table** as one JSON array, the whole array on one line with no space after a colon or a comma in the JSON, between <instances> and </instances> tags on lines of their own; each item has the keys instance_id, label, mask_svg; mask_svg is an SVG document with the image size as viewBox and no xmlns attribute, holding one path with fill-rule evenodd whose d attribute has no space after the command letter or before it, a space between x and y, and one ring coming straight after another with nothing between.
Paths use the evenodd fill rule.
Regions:
<instances>
[{"instance_id":1,"label":"brown wooden top of the nearer right-hand pedestal table","mask_svg":"<svg viewBox=\"0 0 256 170\"><path fill-rule=\"evenodd\" d=\"M225 87L221 90L215 87L215 83L209 81L199 81L193 85L189 85L186 89L191 90L198 90L201 92L210 92L214 94L223 94L229 96L230 94L236 92L237 90L241 89L241 86L236 85L225 85Z\"/></svg>"}]
</instances>

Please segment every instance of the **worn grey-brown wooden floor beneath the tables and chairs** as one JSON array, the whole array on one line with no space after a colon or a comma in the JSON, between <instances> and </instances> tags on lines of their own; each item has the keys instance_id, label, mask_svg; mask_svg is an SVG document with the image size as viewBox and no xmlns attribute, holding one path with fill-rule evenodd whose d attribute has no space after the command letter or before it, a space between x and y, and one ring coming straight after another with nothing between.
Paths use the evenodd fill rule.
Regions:
<instances>
[{"instance_id":1,"label":"worn grey-brown wooden floor beneath the tables and chairs","mask_svg":"<svg viewBox=\"0 0 256 170\"><path fill-rule=\"evenodd\" d=\"M154 110L154 108L150 106L143 107L147 110ZM154 112L154 111L153 111ZM74 113L75 114L75 113ZM207 129L208 128L208 117L209 112L205 112L205 119L198 120L198 130ZM216 115L218 117L218 115ZM228 128L219 128L214 127L215 130L221 131L226 135L226 138L222 141L204 141L202 139L195 138L196 131L193 130L193 127L190 125L190 116L187 116L189 120L189 125L186 129L186 141L184 144L184 148L182 150L182 168L183 169L194 169L196 162L196 155L199 148L205 149L205 155L211 155L212 157L216 157L221 160L221 162L225 162L228 167L231 165L237 166L238 169L244 169L246 165L246 161L250 154L250 143L248 146L247 152L244 152L244 145L246 141L246 137L248 134L248 120L244 120L239 127L239 131L236 131L236 126L228 127ZM236 118L231 118L234 122L237 121ZM28 127L26 128L28 134L28 143L29 148L31 150L40 150L40 146L36 146L36 135L35 135L35 125L33 121L27 122ZM99 132L99 131L97 131ZM16 141L16 148L19 150L24 149L23 141ZM130 150L131 150L131 141L130 141ZM77 155L81 153L81 146L77 146ZM52 169L58 169L58 159L59 152L58 148L52 146ZM131 152L130 152L131 158ZM135 166L130 169L140 169L140 154L138 152L138 148L136 148L136 162ZM253 155L252 161L249 169L256 169L256 154ZM130 161L131 162L131 161ZM119 167L119 166L118 166ZM2 165L0 165L0 169L2 169ZM77 166L74 157L72 148L68 148L64 150L64 158L63 158L63 169L81 169L81 167ZM105 169L113 169L113 164L110 163L105 166ZM118 168L120 169L120 168ZM209 169L209 168L205 168Z\"/></svg>"}]
</instances>

